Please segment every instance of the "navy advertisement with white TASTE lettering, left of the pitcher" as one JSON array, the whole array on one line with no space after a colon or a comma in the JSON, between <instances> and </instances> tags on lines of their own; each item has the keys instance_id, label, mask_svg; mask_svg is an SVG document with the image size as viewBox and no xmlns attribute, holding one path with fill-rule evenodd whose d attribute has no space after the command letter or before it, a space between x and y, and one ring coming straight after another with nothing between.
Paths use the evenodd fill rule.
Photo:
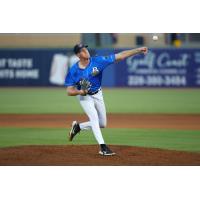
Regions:
<instances>
[{"instance_id":1,"label":"navy advertisement with white TASTE lettering, left of the pitcher","mask_svg":"<svg viewBox=\"0 0 200 200\"><path fill-rule=\"evenodd\" d=\"M71 49L1 49L0 85L64 85L68 67L73 62Z\"/></svg>"}]
</instances>

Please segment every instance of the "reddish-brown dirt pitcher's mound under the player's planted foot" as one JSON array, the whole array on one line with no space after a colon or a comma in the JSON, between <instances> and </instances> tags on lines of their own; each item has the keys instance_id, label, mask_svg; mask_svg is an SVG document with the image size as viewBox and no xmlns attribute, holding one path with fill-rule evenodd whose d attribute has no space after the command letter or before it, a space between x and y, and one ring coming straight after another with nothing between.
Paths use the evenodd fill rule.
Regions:
<instances>
[{"instance_id":1,"label":"reddish-brown dirt pitcher's mound under the player's planted foot","mask_svg":"<svg viewBox=\"0 0 200 200\"><path fill-rule=\"evenodd\" d=\"M0 165L134 166L200 165L200 153L156 148L110 146L117 153L104 157L97 145L21 146L0 149Z\"/></svg>"}]
</instances>

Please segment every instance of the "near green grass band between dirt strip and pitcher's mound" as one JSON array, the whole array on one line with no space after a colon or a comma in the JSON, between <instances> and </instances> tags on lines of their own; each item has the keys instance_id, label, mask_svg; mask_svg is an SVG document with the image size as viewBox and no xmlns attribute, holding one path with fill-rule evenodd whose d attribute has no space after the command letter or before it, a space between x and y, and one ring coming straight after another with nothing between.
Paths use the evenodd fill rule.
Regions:
<instances>
[{"instance_id":1,"label":"near green grass band between dirt strip and pitcher's mound","mask_svg":"<svg viewBox=\"0 0 200 200\"><path fill-rule=\"evenodd\" d=\"M71 143L68 129L0 128L0 147L20 145L97 144L92 132L82 132ZM200 152L200 132L186 130L104 129L108 144Z\"/></svg>"}]
</instances>

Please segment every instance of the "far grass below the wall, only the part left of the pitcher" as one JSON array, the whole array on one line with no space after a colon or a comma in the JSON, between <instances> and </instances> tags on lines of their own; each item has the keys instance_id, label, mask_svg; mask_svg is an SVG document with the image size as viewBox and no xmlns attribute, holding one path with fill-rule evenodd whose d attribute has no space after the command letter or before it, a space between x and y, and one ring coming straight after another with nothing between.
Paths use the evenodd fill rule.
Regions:
<instances>
[{"instance_id":1,"label":"far grass below the wall, only the part left of the pitcher","mask_svg":"<svg viewBox=\"0 0 200 200\"><path fill-rule=\"evenodd\" d=\"M81 112L76 98L69 98L64 88L8 88L0 93L0 113Z\"/></svg>"}]
</instances>

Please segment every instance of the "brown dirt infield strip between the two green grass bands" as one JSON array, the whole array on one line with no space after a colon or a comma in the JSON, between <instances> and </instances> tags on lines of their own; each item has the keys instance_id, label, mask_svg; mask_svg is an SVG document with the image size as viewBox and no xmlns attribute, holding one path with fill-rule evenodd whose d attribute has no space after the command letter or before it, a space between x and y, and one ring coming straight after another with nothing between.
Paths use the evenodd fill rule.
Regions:
<instances>
[{"instance_id":1,"label":"brown dirt infield strip between the two green grass bands","mask_svg":"<svg viewBox=\"0 0 200 200\"><path fill-rule=\"evenodd\" d=\"M200 130L200 115L108 114L108 128L165 128ZM73 120L85 121L81 114L2 114L0 127L66 128Z\"/></svg>"}]
</instances>

